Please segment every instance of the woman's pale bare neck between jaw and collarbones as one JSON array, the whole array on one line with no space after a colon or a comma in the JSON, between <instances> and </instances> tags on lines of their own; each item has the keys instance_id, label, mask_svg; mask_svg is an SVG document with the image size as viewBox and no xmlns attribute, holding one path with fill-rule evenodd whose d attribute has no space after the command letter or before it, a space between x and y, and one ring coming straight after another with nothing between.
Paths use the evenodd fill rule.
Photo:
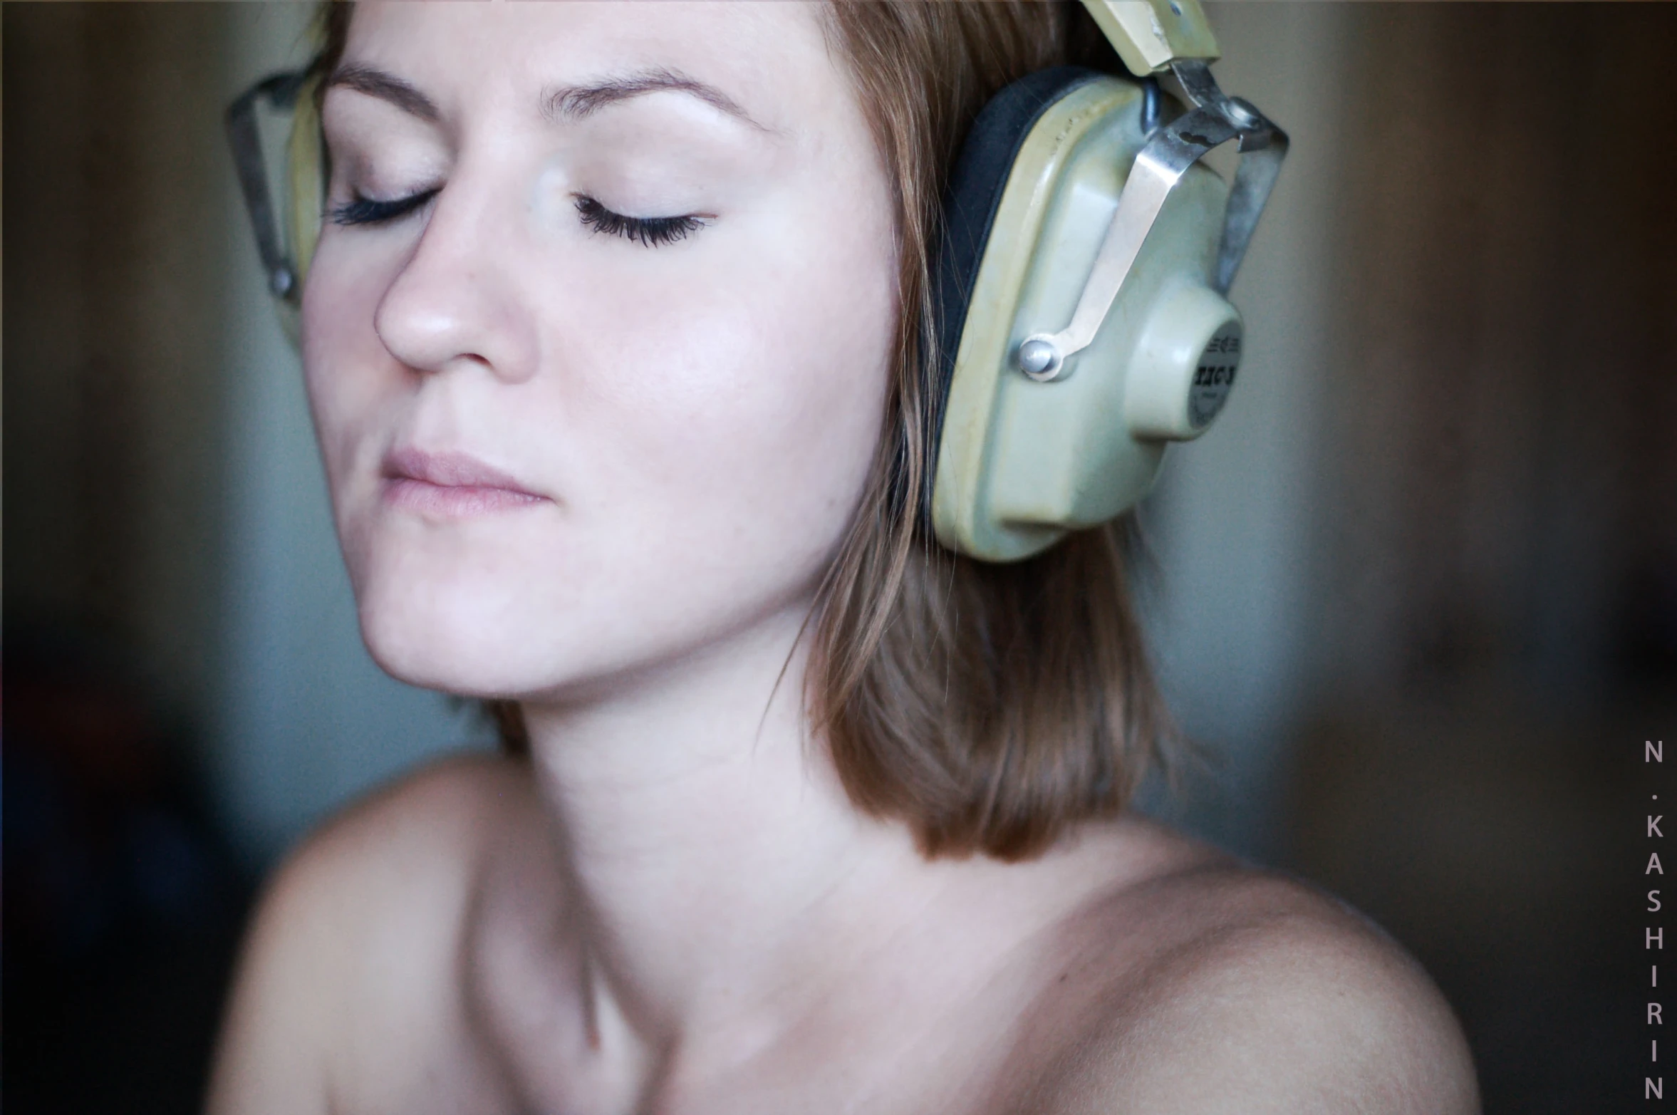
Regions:
<instances>
[{"instance_id":1,"label":"woman's pale bare neck between jaw and collarbones","mask_svg":"<svg viewBox=\"0 0 1677 1115\"><path fill-rule=\"evenodd\" d=\"M879 897L926 880L907 830L855 810L808 734L800 622L525 706L595 1014L654 1046L768 1040L894 929Z\"/></svg>"}]
</instances>

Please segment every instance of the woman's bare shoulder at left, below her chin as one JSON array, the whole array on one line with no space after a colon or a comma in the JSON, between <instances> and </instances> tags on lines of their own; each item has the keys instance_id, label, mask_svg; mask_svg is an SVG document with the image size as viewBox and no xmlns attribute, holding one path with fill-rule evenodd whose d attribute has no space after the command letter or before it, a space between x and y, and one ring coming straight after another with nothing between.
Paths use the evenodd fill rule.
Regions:
<instances>
[{"instance_id":1,"label":"woman's bare shoulder at left, below her chin","mask_svg":"<svg viewBox=\"0 0 1677 1115\"><path fill-rule=\"evenodd\" d=\"M458 1035L453 979L485 855L528 817L527 768L429 765L352 805L273 874L247 932L211 1112L359 1108L342 1080L401 1080ZM356 1073L335 1066L354 1065ZM369 1073L386 1066L392 1071ZM394 1098L394 1097L392 1097Z\"/></svg>"}]
</instances>

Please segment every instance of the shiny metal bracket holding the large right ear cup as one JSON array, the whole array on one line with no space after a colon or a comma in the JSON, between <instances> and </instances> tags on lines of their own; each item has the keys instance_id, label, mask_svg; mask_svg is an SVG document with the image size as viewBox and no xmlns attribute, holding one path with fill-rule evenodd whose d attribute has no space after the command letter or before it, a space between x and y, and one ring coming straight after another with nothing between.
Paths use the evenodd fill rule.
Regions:
<instances>
[{"instance_id":1,"label":"shiny metal bracket holding the large right ear cup","mask_svg":"<svg viewBox=\"0 0 1677 1115\"><path fill-rule=\"evenodd\" d=\"M1020 344L1015 355L1018 367L1035 381L1058 379L1065 371L1065 359L1088 347L1124 288L1166 198L1189 166L1233 139L1239 141L1241 161L1229 189L1223 243L1218 248L1218 293L1228 293L1234 272L1241 267L1253 228L1269 201L1276 174L1281 173L1286 132L1251 102L1224 96L1207 62L1177 59L1171 62L1171 72L1194 107L1155 129L1135 156L1072 322L1057 334L1031 334Z\"/></svg>"}]
</instances>

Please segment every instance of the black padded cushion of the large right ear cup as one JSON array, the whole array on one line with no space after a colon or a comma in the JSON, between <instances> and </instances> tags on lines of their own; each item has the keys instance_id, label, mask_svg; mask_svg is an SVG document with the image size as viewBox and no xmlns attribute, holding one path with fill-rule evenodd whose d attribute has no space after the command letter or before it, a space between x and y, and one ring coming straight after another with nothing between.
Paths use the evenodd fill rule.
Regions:
<instances>
[{"instance_id":1,"label":"black padded cushion of the large right ear cup","mask_svg":"<svg viewBox=\"0 0 1677 1115\"><path fill-rule=\"evenodd\" d=\"M931 424L926 446L922 516L931 530L932 481L937 476L937 443L942 438L944 399L954 376L954 354L961 347L968 303L978 265L984 260L1001 191L1013 171L1025 137L1051 104L1102 74L1082 65L1057 65L1013 82L979 111L961 146L944 191L942 235L932 273L931 337L937 349L927 366L927 409ZM1025 245L1020 245L1021 248Z\"/></svg>"}]
</instances>

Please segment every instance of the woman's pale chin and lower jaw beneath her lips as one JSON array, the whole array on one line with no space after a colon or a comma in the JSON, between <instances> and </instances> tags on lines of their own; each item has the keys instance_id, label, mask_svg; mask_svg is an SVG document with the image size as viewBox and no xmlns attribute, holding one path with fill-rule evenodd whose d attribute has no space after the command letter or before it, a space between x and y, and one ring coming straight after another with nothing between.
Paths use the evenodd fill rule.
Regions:
<instances>
[{"instance_id":1,"label":"woman's pale chin and lower jaw beneath her lips","mask_svg":"<svg viewBox=\"0 0 1677 1115\"><path fill-rule=\"evenodd\" d=\"M369 526L344 537L372 659L411 686L498 699L587 699L745 632L780 639L837 545L800 538L776 552L703 530L649 545L649 523L579 532L540 516ZM671 557L729 545L738 560Z\"/></svg>"}]
</instances>

